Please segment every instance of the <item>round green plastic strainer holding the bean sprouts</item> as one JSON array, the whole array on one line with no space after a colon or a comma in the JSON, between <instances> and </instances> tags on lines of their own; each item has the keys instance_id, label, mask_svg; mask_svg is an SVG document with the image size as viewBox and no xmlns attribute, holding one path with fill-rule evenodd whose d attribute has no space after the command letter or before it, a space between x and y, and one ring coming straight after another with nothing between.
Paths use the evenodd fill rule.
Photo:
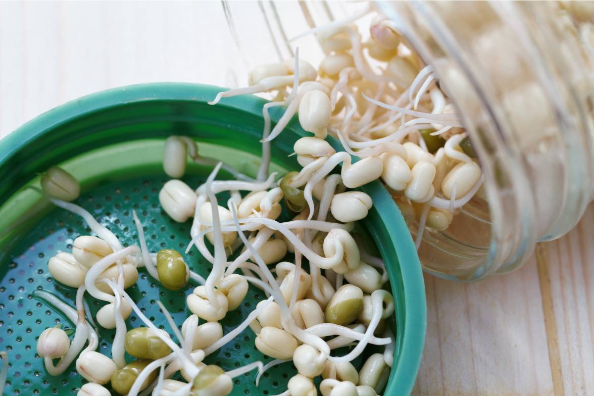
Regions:
<instances>
[{"instance_id":1,"label":"round green plastic strainer holding the bean sprouts","mask_svg":"<svg viewBox=\"0 0 594 396\"><path fill-rule=\"evenodd\" d=\"M144 84L118 88L83 97L50 110L22 126L0 142L0 350L7 350L10 370L5 394L75 394L83 379L74 364L59 377L46 374L36 356L36 337L46 327L67 318L33 296L36 289L48 290L73 305L75 290L62 286L49 275L48 259L67 251L79 235L89 233L78 218L53 208L46 199L27 189L39 185L39 173L59 164L81 182L83 193L76 201L109 227L124 246L137 243L132 210L143 221L149 249L183 251L189 239L189 223L175 223L160 209L157 194L166 175L162 170L163 142L172 134L198 141L201 155L221 159L241 172L254 174L260 161L264 101L235 97L217 106L206 104L220 88L194 84ZM271 112L273 120L282 110ZM305 132L292 122L273 141L271 170L281 174L298 170L293 142ZM336 145L336 141L331 141ZM185 181L196 186L210 169L189 166ZM220 173L224 177L224 173ZM379 182L362 188L371 195L374 207L359 227L370 245L377 247L387 264L396 311L394 366L384 391L386 395L408 394L415 382L425 338L426 306L424 283L415 248L405 221ZM373 246L371 246L373 248ZM186 256L195 271L206 275L210 264L197 251ZM157 326L170 332L156 305L161 300L178 325L189 315L183 292L170 292L156 283L146 270L128 289ZM242 321L263 298L250 289L238 311L223 321L228 332ZM100 303L87 296L91 312ZM134 313L128 327L141 325ZM109 356L114 331L100 331L100 351ZM128 356L129 358L129 356ZM254 347L254 334L244 331L207 358L208 363L230 370L245 363L270 358ZM361 365L361 358L353 362ZM233 395L274 395L285 391L295 373L291 363L268 370L255 387L255 372L236 378Z\"/></svg>"}]
</instances>

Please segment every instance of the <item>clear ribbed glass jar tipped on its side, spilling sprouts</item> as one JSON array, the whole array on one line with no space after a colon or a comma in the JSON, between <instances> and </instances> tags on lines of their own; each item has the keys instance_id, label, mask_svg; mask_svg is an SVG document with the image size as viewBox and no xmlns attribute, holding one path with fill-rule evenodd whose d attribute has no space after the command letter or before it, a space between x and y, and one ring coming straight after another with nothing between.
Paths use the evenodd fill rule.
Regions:
<instances>
[{"instance_id":1,"label":"clear ribbed glass jar tipped on its side, spilling sprouts","mask_svg":"<svg viewBox=\"0 0 594 396\"><path fill-rule=\"evenodd\" d=\"M433 66L485 177L450 227L425 230L425 270L474 281L520 267L593 198L594 3L377 4Z\"/></svg>"}]
</instances>

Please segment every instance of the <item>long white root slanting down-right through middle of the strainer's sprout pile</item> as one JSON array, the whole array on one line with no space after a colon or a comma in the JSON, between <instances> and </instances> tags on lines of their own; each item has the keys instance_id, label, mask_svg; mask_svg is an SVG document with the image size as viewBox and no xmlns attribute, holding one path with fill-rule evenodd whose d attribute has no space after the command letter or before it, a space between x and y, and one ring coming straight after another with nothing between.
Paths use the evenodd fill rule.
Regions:
<instances>
[{"instance_id":1,"label":"long white root slanting down-right through middle of the strainer's sprout pile","mask_svg":"<svg viewBox=\"0 0 594 396\"><path fill-rule=\"evenodd\" d=\"M235 221L235 226L239 228L239 221L238 221L238 217L237 217L237 208L235 207L235 205L231 205L231 214L233 215L233 221ZM258 251L256 251L254 249L254 246L252 246L252 244L249 243L249 241L247 240L247 238L245 237L245 235L242 232L238 232L238 233L239 233L239 237L241 237L241 239L244 241L244 245L246 246L246 248L248 248L248 250L251 251L252 255L254 256L256 263L260 266L260 268L262 268L262 272L264 273L264 275L266 275L267 281L268 281L268 283L270 283L270 286L272 287L271 291L273 293L272 293L272 297L270 297L270 298L274 298L276 300L277 304L279 305L280 313L281 313L281 323L283 325L283 328L285 328L285 330L287 332L289 332L290 334L295 335L295 337L298 338L298 340L302 341L302 343L307 343L307 344L310 344L311 346L314 346L315 348L317 348L320 351L321 355L328 356L330 354L330 349L328 348L328 346L324 340L322 340L320 337L315 336L314 334L305 332L301 328L297 327L297 325L295 325L295 322L293 321L293 316L291 315L289 307L287 306L287 304L285 302L285 298L283 297L283 293L280 291L279 284L276 282L272 273L266 266L266 263L262 259L262 256L260 256L260 254L258 254ZM295 235L293 235L292 233L291 233L291 235L293 237L295 237ZM297 242L301 243L301 245L305 247L304 243L301 242L301 240L299 240L299 238L295 237L295 240ZM301 250L298 248L298 246L295 243L293 243L293 245L295 245L295 251ZM339 245L340 245L340 243L339 243ZM342 245L340 245L340 248L342 249ZM338 246L337 246L337 249L338 249ZM342 253L341 253L341 256L342 256ZM295 277L297 277L297 276L298 275L295 274Z\"/></svg>"}]
</instances>

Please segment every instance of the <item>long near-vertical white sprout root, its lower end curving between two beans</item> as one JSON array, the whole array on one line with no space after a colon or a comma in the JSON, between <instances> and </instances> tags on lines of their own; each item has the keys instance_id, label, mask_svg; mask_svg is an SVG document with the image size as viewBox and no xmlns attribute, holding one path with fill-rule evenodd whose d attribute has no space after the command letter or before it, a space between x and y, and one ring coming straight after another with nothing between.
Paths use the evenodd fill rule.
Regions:
<instances>
[{"instance_id":1,"label":"long near-vertical white sprout root, its lower end curving between two beans","mask_svg":"<svg viewBox=\"0 0 594 396\"><path fill-rule=\"evenodd\" d=\"M217 173L220 169L220 164L214 167L213 172L210 173L204 188L206 189L206 195L210 201L210 213L213 218L213 239L214 239L214 262L213 269L206 278L205 291L210 302L215 308L219 308L219 300L214 294L214 287L223 278L225 274L225 266L227 264L227 254L225 253L225 245L223 244L223 234L221 232L220 216L219 216L219 203L216 195L211 191L210 184L213 182Z\"/></svg>"}]
</instances>

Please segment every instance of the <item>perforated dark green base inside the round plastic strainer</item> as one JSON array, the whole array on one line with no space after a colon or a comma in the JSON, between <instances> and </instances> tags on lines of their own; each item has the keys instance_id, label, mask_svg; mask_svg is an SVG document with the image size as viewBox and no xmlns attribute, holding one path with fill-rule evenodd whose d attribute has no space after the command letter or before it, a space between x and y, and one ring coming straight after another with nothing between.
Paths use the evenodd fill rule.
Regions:
<instances>
[{"instance_id":1,"label":"perforated dark green base inside the round plastic strainer","mask_svg":"<svg viewBox=\"0 0 594 396\"><path fill-rule=\"evenodd\" d=\"M185 179L185 182L190 186L198 186L203 180L204 178L191 177ZM124 246L138 243L132 219L132 210L135 210L143 223L150 251L172 248L183 253L189 242L190 223L175 223L161 210L157 195L166 181L164 177L155 177L103 183L85 192L75 203L89 210L101 224L112 230ZM286 219L286 214L283 216ZM76 372L74 363L64 375L53 377L46 373L43 359L36 354L37 337L45 328L59 323L64 328L72 328L74 325L45 302L37 300L32 293L35 289L47 290L74 306L76 290L52 280L48 260L59 251L70 251L76 237L90 234L90 229L80 217L55 208L12 248L5 258L5 262L9 264L0 267L0 348L8 351L10 361L6 395L75 394L86 382ZM211 265L200 256L197 249L192 249L185 255L185 259L194 271L207 276ZM286 259L291 261L292 257ZM161 300L181 329L181 324L191 315L185 305L185 297L192 292L195 284L190 281L182 292L171 292L154 281L144 268L139 273L138 282L129 287L127 292L157 327L165 329L175 339L156 301ZM244 303L223 319L225 334L241 323L263 297L263 292L250 287ZM93 299L89 294L85 298L94 318L103 302ZM127 320L128 329L142 325L132 312ZM110 356L114 335L115 330L100 329L101 353ZM247 328L222 349L208 356L205 363L219 365L223 370L231 370L256 360L266 364L271 358L263 356L255 349L254 338L254 333ZM369 347L365 356L372 350ZM127 355L127 361L131 360L133 358ZM359 368L361 357L353 364ZM287 381L295 372L292 363L274 366L264 374L260 387L255 387L254 384L256 372L249 372L234 379L232 394L279 394L286 390Z\"/></svg>"}]
</instances>

